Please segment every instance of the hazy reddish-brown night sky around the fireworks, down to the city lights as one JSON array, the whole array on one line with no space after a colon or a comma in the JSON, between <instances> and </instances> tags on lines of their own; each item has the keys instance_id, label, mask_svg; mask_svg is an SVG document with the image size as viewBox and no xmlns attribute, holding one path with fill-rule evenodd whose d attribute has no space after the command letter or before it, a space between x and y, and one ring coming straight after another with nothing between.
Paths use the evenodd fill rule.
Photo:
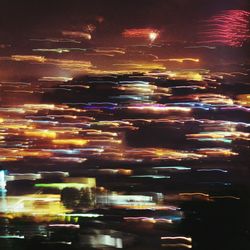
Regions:
<instances>
[{"instance_id":1,"label":"hazy reddish-brown night sky around the fireworks, down to the city lights","mask_svg":"<svg viewBox=\"0 0 250 250\"><path fill-rule=\"evenodd\" d=\"M204 56L183 48L200 45L200 41L202 45L216 46L213 42L207 43L206 36L202 40L200 38L200 32L207 29L204 21L225 10L242 12L248 10L248 7L248 0L0 0L0 74L2 77L17 75L20 78L22 74L29 75L31 67L32 73L39 77L45 72L47 75L66 77L78 74L71 72L72 68L74 71L72 62L70 70L65 69L63 60L89 61L91 70L113 70L120 63L124 63L126 67L126 63L131 60L157 64L155 58L165 57L198 57L202 63L210 63L210 58L218 61L217 56L234 56L233 52L216 50L212 54L212 51L208 51ZM238 27L238 20L235 23ZM90 39L64 34L65 31L85 32L89 24L95 27L93 32L88 33L91 35ZM225 21L222 32L227 32L227 27ZM159 36L153 42L156 46L151 46L148 36L141 40L137 37L124 37L122 34L126 29L157 30ZM219 45L227 48L240 47L241 44L234 44L234 39L240 35L246 37L243 41L245 44L248 41L248 28L243 28L241 32L232 29L232 38L223 38L224 40L221 38L221 31L217 32L216 29L207 31L222 40ZM51 42L49 39L57 41ZM75 39L77 42L65 42L67 39ZM239 42L237 39L236 42ZM37 51L65 47L73 50L67 53ZM80 50L76 51L75 48ZM102 52L103 48L106 51ZM107 52L110 48L125 52ZM244 51L242 53L246 54ZM211 56L208 57L208 54ZM238 51L236 54L241 55ZM16 60L13 55L37 57ZM40 56L44 57L46 63L37 63ZM203 56L206 60L202 59ZM194 65L191 64L190 67Z\"/></svg>"}]
</instances>

